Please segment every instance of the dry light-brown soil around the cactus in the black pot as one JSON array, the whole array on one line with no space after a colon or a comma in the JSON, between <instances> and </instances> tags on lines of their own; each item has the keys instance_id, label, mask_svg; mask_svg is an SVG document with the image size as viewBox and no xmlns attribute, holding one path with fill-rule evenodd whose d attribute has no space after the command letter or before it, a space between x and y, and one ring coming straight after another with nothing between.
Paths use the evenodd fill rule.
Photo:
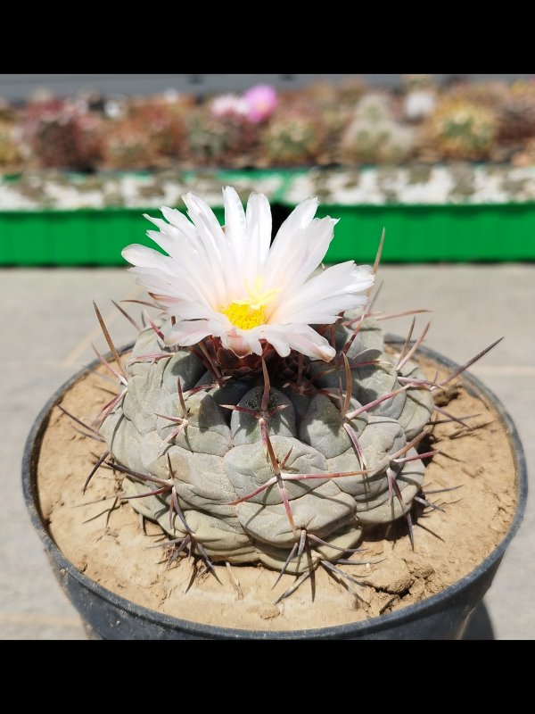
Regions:
<instances>
[{"instance_id":1,"label":"dry light-brown soil around the cactus in the black pot","mask_svg":"<svg viewBox=\"0 0 535 714\"><path fill-rule=\"evenodd\" d=\"M420 364L434 377L435 362L422 359ZM62 406L87 423L109 399L107 383L89 373L70 387ZM104 446L81 436L57 407L38 461L43 518L53 540L86 576L132 602L177 618L280 631L342 625L399 610L473 570L502 540L514 516L514 461L496 412L482 397L469 394L462 381L439 399L459 417L478 415L469 419L471 430L455 421L444 423L440 415L433 428L432 448L440 454L427 466L424 489L443 511L419 508L414 551L404 519L368 533L362 544L366 553L357 553L354 560L382 562L340 566L360 585L337 582L319 569L314 579L276 603L294 577L284 575L273 588L277 574L263 567L218 564L221 583L210 573L195 576L191 560L178 559L167 567L169 553L148 547L167 539L161 528L142 523L128 502L113 498L121 490L119 474L99 469L82 494L91 464Z\"/></svg>"}]
</instances>

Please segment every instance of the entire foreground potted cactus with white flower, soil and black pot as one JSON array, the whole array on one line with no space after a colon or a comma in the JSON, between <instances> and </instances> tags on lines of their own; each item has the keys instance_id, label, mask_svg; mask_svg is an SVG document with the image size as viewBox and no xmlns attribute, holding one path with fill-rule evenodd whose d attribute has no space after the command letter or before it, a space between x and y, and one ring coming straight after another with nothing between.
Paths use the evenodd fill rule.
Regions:
<instances>
[{"instance_id":1,"label":"entire foreground potted cactus with white flower, soil and black pot","mask_svg":"<svg viewBox=\"0 0 535 714\"><path fill-rule=\"evenodd\" d=\"M458 381L490 347L457 367L415 361L414 320L385 339L379 255L316 272L336 223L316 199L271 246L264 195L244 211L226 187L224 228L184 200L190 220L150 218L166 255L124 252L158 312L127 315L119 354L96 308L110 355L29 436L25 494L60 582L105 637L462 635L526 496L514 425Z\"/></svg>"}]
</instances>

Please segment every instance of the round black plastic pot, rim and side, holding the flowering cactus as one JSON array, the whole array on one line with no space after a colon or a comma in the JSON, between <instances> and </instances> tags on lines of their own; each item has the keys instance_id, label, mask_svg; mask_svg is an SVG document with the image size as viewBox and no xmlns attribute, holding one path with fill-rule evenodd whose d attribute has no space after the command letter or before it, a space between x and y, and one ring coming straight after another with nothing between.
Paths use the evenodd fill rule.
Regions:
<instances>
[{"instance_id":1,"label":"round black plastic pot, rim and side, holding the flowering cactus","mask_svg":"<svg viewBox=\"0 0 535 714\"><path fill-rule=\"evenodd\" d=\"M420 348L424 356L440 362L448 369L457 364L428 348ZM50 411L61 402L62 395L80 378L82 369L69 379L45 404L38 415L25 446L22 461L22 486L24 498L34 527L36 527L45 552L63 590L85 620L86 625L104 639L222 639L222 640L409 640L409 639L459 639L462 637L473 610L481 602L492 583L498 565L523 519L528 481L526 463L513 420L498 397L472 375L464 375L465 386L474 394L482 394L498 413L506 428L516 470L517 502L513 522L504 539L490 555L471 573L450 585L439 594L402 610L335 627L268 632L263 630L239 630L232 627L214 627L177 619L156 610L136 605L119 595L111 593L81 573L65 558L48 533L39 509L37 494L37 459L41 441L48 424Z\"/></svg>"}]
</instances>

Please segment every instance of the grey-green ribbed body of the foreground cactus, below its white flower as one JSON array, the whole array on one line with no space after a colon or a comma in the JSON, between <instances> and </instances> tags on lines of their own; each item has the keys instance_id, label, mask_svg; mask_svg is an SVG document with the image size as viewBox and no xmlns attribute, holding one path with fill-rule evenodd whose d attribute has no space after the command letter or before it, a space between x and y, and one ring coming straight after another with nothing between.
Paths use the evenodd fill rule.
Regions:
<instances>
[{"instance_id":1,"label":"grey-green ribbed body of the foreground cactus, below its white flower","mask_svg":"<svg viewBox=\"0 0 535 714\"><path fill-rule=\"evenodd\" d=\"M133 507L212 562L292 573L338 560L367 527L407 514L424 477L410 443L432 395L411 386L424 380L416 365L397 368L384 352L378 323L357 320L352 339L346 319L334 329L332 365L292 353L244 378L214 373L215 350L210 365L200 351L166 347L166 321L144 329L127 361L128 392L101 428L130 469L128 496L163 486ZM181 517L169 519L174 501ZM294 547L304 531L311 555Z\"/></svg>"}]
</instances>

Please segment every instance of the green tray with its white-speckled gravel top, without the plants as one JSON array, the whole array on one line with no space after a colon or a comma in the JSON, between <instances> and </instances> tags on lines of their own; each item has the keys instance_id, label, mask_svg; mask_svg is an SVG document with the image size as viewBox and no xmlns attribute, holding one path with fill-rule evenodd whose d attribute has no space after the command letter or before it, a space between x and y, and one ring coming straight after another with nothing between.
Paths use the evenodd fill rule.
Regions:
<instances>
[{"instance_id":1,"label":"green tray with its white-speckled gravel top, without the plants","mask_svg":"<svg viewBox=\"0 0 535 714\"><path fill-rule=\"evenodd\" d=\"M467 172L475 173L477 170L477 167L465 169L461 179L470 179L470 175L466 179ZM152 245L152 241L144 236L145 229L149 227L142 218L144 212L157 216L161 203L179 206L179 196L186 190L204 196L208 187L210 203L218 220L223 222L223 211L217 205L217 196L220 195L219 187L226 184L238 187L244 197L251 190L266 193L272 205L278 205L279 218L302 200L305 197L303 194L319 195L318 215L341 219L326 255L329 262L350 259L373 261L383 228L386 230L384 262L535 259L535 201L467 203L454 193L451 200L457 200L457 203L391 203L389 196L384 203L351 204L351 190L356 180L366 176L368 180L372 172L375 172L373 178L379 188L381 181L391 180L392 170L390 173L383 170L383 174L381 170L367 171L367 174L366 170L343 174L344 180L347 180L342 192L343 202L335 200L335 191L325 190L333 178L340 183L341 172L335 170L330 173L329 170L318 169L167 172L163 178L147 174L104 176L102 179L74 176L74 187L84 181L92 181L93 196L98 195L95 181L101 180L103 187L99 190L102 190L106 200L105 190L112 185L116 192L113 200L116 202L118 182L128 180L128 202L135 205L106 206L103 202L102 207L70 209L54 207L52 192L46 194L46 182L52 179L45 177L41 189L45 196L43 203L48 206L45 210L39 208L39 203L36 204L37 210L26 207L6 210L3 208L6 199L3 203L0 201L0 265L123 265L120 252L125 245ZM495 167L490 174L493 179L496 179L496 171ZM506 170L502 171L506 176ZM531 181L529 173L527 176L525 180ZM65 187L70 189L71 185L64 177L56 180L62 190ZM138 194L132 197L132 186L136 186L136 182L139 185ZM16 185L16 181L9 183L9 190ZM425 179L421 185L426 186ZM54 195L58 194L57 186ZM88 195L87 187L85 191L80 190L82 200ZM524 191L524 194L529 195L529 192ZM362 196L362 191L358 195ZM145 203L141 203L144 199Z\"/></svg>"}]
</instances>

